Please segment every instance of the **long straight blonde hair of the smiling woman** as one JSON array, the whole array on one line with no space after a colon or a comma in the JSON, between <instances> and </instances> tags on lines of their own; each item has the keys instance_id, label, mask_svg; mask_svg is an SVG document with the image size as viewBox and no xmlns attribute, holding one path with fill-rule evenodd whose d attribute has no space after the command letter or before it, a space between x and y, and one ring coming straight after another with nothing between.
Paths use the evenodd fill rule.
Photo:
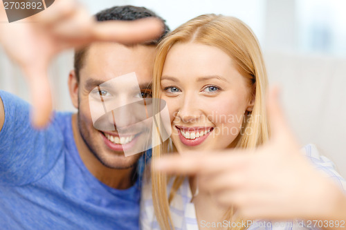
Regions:
<instances>
[{"instance_id":1,"label":"long straight blonde hair of the smiling woman","mask_svg":"<svg viewBox=\"0 0 346 230\"><path fill-rule=\"evenodd\" d=\"M248 119L242 128L250 128L251 132L242 132L235 140L236 148L255 148L268 140L269 128L266 119L264 95L268 84L262 52L257 38L252 30L241 20L223 15L201 15L176 28L161 44L158 45L154 63L154 98L160 98L161 75L165 58L170 48L177 43L194 42L214 46L228 54L237 66L237 70L248 79L251 85L255 104L248 112ZM154 105L158 108L158 105ZM152 157L157 159L161 153L167 153L168 143L153 148ZM154 162L152 162L154 164ZM154 167L152 167L153 169ZM152 198L156 220L161 229L174 229L170 215L169 202L174 192L182 183L181 177L176 177L167 199L167 175L154 170L152 175ZM233 210L228 212L228 218L233 220ZM237 218L237 221L242 219ZM240 229L240 228L239 228Z\"/></svg>"}]
</instances>

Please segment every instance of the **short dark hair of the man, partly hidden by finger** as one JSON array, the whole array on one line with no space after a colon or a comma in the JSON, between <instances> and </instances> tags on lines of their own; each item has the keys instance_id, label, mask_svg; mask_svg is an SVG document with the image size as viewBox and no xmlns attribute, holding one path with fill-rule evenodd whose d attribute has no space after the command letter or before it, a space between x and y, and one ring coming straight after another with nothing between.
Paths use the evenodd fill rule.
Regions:
<instances>
[{"instance_id":1,"label":"short dark hair of the man, partly hidden by finger","mask_svg":"<svg viewBox=\"0 0 346 230\"><path fill-rule=\"evenodd\" d=\"M148 46L156 46L158 43L165 37L167 32L170 31L170 28L165 23L165 20L163 20L161 17L158 17L152 10L148 10L144 7L137 7L137 6L114 6L112 8L102 10L98 12L96 15L97 21L111 21L111 20L122 20L122 21L132 21L136 19L143 19L145 17L156 17L160 19L163 22L164 30L158 39L154 41L150 41L148 43L145 43L145 45ZM80 69L83 67L84 64L84 57L86 55L86 52L88 50L88 47L84 47L80 50L75 50L75 59L74 59L74 68L75 68L75 76L77 77L77 81L79 82L80 79Z\"/></svg>"}]
</instances>

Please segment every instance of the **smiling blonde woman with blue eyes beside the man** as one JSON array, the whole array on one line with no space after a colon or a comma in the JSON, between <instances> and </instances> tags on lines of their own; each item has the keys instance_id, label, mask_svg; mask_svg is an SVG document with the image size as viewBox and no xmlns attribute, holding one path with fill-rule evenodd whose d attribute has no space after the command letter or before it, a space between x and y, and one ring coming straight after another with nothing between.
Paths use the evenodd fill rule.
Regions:
<instances>
[{"instance_id":1,"label":"smiling blonde woman with blue eyes beside the man","mask_svg":"<svg viewBox=\"0 0 346 230\"><path fill-rule=\"evenodd\" d=\"M174 30L158 47L153 85L154 97L164 99L170 111L173 142L154 148L154 159L171 151L255 148L268 140L262 52L251 29L239 19L202 15ZM165 174L152 171L152 200L149 189L143 189L143 229L242 222L236 210L219 207L195 184L196 178L167 180ZM157 222L150 214L151 202ZM236 225L233 229L244 229Z\"/></svg>"}]
</instances>

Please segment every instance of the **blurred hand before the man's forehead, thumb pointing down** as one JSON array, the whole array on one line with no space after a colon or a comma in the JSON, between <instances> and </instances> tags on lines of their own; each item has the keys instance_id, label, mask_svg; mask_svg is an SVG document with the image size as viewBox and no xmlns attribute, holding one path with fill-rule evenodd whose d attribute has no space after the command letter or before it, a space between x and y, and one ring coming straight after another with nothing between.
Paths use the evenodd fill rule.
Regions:
<instances>
[{"instance_id":1,"label":"blurred hand before the man's forehead, thumb pointing down","mask_svg":"<svg viewBox=\"0 0 346 230\"><path fill-rule=\"evenodd\" d=\"M0 0L0 21L7 21ZM47 70L58 52L93 41L134 44L161 35L158 19L96 22L74 0L56 0L46 10L19 23L0 23L0 44L23 70L33 100L33 123L44 126L52 110Z\"/></svg>"}]
</instances>

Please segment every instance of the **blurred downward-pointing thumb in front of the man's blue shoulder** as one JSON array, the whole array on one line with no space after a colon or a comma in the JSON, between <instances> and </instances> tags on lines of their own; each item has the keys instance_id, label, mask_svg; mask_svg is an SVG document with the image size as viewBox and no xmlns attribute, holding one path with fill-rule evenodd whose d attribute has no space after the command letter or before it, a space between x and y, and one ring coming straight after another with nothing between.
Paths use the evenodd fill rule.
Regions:
<instances>
[{"instance_id":1,"label":"blurred downward-pointing thumb in front of the man's blue shoulder","mask_svg":"<svg viewBox=\"0 0 346 230\"><path fill-rule=\"evenodd\" d=\"M52 95L49 86L47 67L24 68L33 102L31 119L36 128L43 128L48 124L52 111Z\"/></svg>"}]
</instances>

